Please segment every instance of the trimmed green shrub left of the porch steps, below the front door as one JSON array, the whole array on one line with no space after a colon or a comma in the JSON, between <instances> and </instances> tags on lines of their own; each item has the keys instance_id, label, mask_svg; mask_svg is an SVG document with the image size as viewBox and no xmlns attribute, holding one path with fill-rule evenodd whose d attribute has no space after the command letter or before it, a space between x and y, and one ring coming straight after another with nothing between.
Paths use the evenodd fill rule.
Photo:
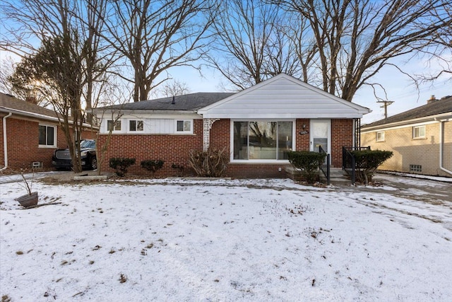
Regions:
<instances>
[{"instance_id":1,"label":"trimmed green shrub left of the porch steps, below the front door","mask_svg":"<svg viewBox=\"0 0 452 302\"><path fill-rule=\"evenodd\" d=\"M316 181L318 176L316 172L326 157L326 153L312 151L289 151L287 155L294 168L302 170L302 175L308 183Z\"/></svg>"}]
</instances>

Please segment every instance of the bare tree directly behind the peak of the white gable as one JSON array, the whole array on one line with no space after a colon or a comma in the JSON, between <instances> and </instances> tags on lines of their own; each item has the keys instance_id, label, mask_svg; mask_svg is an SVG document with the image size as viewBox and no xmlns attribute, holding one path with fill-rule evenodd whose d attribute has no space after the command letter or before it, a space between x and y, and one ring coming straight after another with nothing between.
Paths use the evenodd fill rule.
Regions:
<instances>
[{"instance_id":1,"label":"bare tree directly behind the peak of the white gable","mask_svg":"<svg viewBox=\"0 0 452 302\"><path fill-rule=\"evenodd\" d=\"M266 66L269 57L269 62L281 64L273 51L280 45L271 41L277 9L259 0L230 0L222 2L215 16L216 39L207 60L235 88L265 80L271 74Z\"/></svg>"}]
</instances>

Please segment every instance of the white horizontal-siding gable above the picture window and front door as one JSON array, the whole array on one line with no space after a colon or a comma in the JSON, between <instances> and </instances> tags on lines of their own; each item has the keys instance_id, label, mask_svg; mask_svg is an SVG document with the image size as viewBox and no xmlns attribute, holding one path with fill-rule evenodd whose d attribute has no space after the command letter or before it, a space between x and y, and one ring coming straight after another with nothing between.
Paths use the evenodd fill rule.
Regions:
<instances>
[{"instance_id":1,"label":"white horizontal-siding gable above the picture window and front door","mask_svg":"<svg viewBox=\"0 0 452 302\"><path fill-rule=\"evenodd\" d=\"M198 110L204 118L361 118L369 109L280 74Z\"/></svg>"}]
</instances>

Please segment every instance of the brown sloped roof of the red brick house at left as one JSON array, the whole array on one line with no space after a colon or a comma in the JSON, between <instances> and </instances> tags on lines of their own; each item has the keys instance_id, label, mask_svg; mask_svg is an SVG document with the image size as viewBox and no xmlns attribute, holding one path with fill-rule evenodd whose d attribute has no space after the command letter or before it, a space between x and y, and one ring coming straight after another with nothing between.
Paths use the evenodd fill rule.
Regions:
<instances>
[{"instance_id":1,"label":"brown sloped roof of the red brick house at left","mask_svg":"<svg viewBox=\"0 0 452 302\"><path fill-rule=\"evenodd\" d=\"M19 100L13 95L5 93L0 93L0 112L12 112L17 115L38 117L44 120L58 120L57 113L54 110Z\"/></svg>"}]
</instances>

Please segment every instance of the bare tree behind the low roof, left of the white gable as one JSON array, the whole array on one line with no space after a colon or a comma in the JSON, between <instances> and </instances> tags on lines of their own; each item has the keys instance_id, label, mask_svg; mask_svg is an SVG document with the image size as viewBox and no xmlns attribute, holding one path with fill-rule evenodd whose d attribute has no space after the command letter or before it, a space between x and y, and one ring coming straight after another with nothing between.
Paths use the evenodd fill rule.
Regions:
<instances>
[{"instance_id":1,"label":"bare tree behind the low roof, left of the white gable","mask_svg":"<svg viewBox=\"0 0 452 302\"><path fill-rule=\"evenodd\" d=\"M212 23L207 16L208 0L124 0L109 1L105 16L109 45L117 50L131 76L133 100L147 100L157 76L174 66L194 66L208 43L206 30ZM196 66L194 66L196 67Z\"/></svg>"}]
</instances>

